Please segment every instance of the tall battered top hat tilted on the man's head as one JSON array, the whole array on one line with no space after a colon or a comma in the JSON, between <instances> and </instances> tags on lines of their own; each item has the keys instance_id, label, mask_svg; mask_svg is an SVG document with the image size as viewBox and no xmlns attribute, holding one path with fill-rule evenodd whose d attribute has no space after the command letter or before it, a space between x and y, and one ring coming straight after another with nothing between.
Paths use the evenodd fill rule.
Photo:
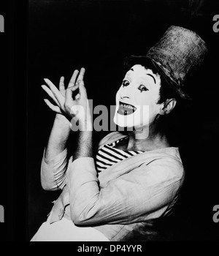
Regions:
<instances>
[{"instance_id":1,"label":"tall battered top hat tilted on the man's head","mask_svg":"<svg viewBox=\"0 0 219 256\"><path fill-rule=\"evenodd\" d=\"M207 45L198 34L180 26L170 26L146 56L131 58L150 59L159 74L181 98L191 99L183 91L185 80L201 66L206 55Z\"/></svg>"}]
</instances>

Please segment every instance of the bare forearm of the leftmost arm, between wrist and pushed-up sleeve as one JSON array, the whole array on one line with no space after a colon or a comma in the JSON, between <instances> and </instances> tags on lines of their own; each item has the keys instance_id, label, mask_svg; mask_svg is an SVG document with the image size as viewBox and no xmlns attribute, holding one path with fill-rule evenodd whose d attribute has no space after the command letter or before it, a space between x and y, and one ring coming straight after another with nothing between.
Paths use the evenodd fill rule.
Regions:
<instances>
[{"instance_id":1,"label":"bare forearm of the leftmost arm, between wrist and pushed-up sleeve","mask_svg":"<svg viewBox=\"0 0 219 256\"><path fill-rule=\"evenodd\" d=\"M45 148L46 159L53 159L64 151L70 132L69 121L64 116L57 114L50 132L47 147Z\"/></svg>"}]
</instances>

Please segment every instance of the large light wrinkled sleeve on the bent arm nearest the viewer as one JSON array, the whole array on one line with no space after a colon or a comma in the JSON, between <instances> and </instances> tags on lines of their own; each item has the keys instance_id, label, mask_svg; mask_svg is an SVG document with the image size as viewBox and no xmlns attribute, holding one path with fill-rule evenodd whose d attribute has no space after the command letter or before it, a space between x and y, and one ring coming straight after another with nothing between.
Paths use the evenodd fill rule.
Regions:
<instances>
[{"instance_id":1,"label":"large light wrinkled sleeve on the bent arm nearest the viewer","mask_svg":"<svg viewBox=\"0 0 219 256\"><path fill-rule=\"evenodd\" d=\"M154 212L161 214L181 186L183 172L176 171L180 166L175 162L158 159L101 187L93 158L76 159L68 175L72 221L76 225L127 225L150 219Z\"/></svg>"}]
</instances>

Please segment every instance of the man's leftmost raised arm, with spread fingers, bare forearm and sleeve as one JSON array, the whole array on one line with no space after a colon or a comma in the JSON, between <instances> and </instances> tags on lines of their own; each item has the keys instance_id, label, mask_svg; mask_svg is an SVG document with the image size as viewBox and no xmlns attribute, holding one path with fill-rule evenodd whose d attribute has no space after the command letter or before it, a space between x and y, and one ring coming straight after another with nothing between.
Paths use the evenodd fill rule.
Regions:
<instances>
[{"instance_id":1,"label":"man's leftmost raised arm, with spread fingers, bare forearm and sleeve","mask_svg":"<svg viewBox=\"0 0 219 256\"><path fill-rule=\"evenodd\" d=\"M69 82L69 86L74 84L78 71L75 70ZM50 138L45 148L41 165L41 184L46 190L56 190L65 185L66 169L68 167L66 143L71 132L69 116L64 112L66 89L64 86L64 77L61 77L59 90L50 80L45 79L47 86L42 89L46 91L53 105L48 99L45 99L47 106L56 113L53 128L50 132Z\"/></svg>"}]
</instances>

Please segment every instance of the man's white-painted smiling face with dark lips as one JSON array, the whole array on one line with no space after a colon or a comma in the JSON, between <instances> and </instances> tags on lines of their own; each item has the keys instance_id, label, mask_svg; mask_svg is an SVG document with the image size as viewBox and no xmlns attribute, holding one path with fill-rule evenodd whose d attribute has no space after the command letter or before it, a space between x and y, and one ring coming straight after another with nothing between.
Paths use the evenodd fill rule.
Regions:
<instances>
[{"instance_id":1,"label":"man's white-painted smiling face with dark lips","mask_svg":"<svg viewBox=\"0 0 219 256\"><path fill-rule=\"evenodd\" d=\"M158 105L161 78L140 64L126 73L116 94L114 121L120 127L145 127L161 109Z\"/></svg>"}]
</instances>

